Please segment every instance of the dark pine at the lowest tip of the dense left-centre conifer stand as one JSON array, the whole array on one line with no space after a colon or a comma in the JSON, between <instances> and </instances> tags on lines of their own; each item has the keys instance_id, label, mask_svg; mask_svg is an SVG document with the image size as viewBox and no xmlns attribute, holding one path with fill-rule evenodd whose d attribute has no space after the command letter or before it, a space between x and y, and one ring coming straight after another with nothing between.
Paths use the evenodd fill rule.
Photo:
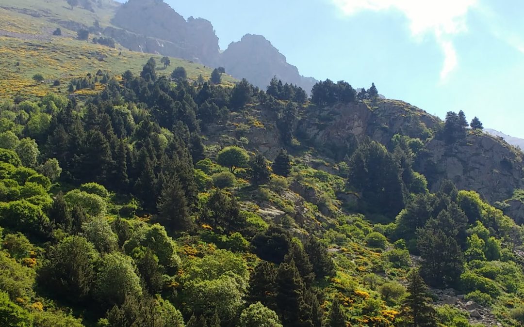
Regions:
<instances>
[{"instance_id":1,"label":"dark pine at the lowest tip of the dense left-centre conifer stand","mask_svg":"<svg viewBox=\"0 0 524 327\"><path fill-rule=\"evenodd\" d=\"M171 231L187 231L192 228L187 200L178 178L163 186L157 208L161 220Z\"/></svg>"}]
</instances>

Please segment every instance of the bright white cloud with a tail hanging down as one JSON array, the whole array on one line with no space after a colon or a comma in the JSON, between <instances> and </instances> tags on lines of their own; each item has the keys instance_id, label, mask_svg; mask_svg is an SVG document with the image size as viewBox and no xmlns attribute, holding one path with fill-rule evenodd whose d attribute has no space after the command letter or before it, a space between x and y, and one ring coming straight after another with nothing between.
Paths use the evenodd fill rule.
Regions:
<instances>
[{"instance_id":1,"label":"bright white cloud with a tail hanging down","mask_svg":"<svg viewBox=\"0 0 524 327\"><path fill-rule=\"evenodd\" d=\"M466 15L478 0L332 0L345 15L364 10L395 9L402 12L410 22L413 37L428 33L435 36L444 52L441 80L456 68L457 54L453 36L467 30Z\"/></svg>"}]
</instances>

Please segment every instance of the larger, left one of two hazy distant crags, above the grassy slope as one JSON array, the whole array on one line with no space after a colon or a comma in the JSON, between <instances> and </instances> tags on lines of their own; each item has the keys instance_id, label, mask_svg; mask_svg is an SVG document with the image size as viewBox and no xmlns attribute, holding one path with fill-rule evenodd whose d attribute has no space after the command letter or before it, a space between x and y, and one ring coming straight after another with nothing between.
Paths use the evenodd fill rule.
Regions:
<instances>
[{"instance_id":1,"label":"larger, left one of two hazy distant crags, above the grassy slope","mask_svg":"<svg viewBox=\"0 0 524 327\"><path fill-rule=\"evenodd\" d=\"M187 21L161 0L129 0L116 10L112 19L115 26L134 32L143 38L158 39L158 43L170 42L171 46L151 47L144 43L129 42L129 36L115 33L116 41L132 50L142 48L144 52L158 52L163 55L201 62L215 66L219 58L219 38L211 22L190 17Z\"/></svg>"}]
</instances>

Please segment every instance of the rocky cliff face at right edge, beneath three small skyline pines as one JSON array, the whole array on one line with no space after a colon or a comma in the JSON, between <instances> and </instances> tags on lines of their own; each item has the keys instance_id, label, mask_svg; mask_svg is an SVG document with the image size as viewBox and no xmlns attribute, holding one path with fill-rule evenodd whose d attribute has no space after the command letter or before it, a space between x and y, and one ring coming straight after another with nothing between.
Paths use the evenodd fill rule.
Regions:
<instances>
[{"instance_id":1,"label":"rocky cliff face at right edge, beneath three small skyline pines","mask_svg":"<svg viewBox=\"0 0 524 327\"><path fill-rule=\"evenodd\" d=\"M431 140L419 155L417 170L428 178L431 190L443 179L459 189L475 190L493 203L522 188L522 154L488 134L469 134L454 144Z\"/></svg>"}]
</instances>

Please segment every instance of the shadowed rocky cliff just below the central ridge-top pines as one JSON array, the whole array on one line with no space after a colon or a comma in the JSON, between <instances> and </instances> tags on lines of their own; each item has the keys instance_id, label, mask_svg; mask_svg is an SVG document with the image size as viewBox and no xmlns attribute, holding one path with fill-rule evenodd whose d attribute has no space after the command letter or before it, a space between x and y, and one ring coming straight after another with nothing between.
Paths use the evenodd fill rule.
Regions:
<instances>
[{"instance_id":1,"label":"shadowed rocky cliff just below the central ridge-top pines","mask_svg":"<svg viewBox=\"0 0 524 327\"><path fill-rule=\"evenodd\" d=\"M389 144L395 134L425 139L439 119L408 103L378 100L375 104L339 104L319 109L311 106L302 115L297 136L326 155L342 160L364 137Z\"/></svg>"}]
</instances>

